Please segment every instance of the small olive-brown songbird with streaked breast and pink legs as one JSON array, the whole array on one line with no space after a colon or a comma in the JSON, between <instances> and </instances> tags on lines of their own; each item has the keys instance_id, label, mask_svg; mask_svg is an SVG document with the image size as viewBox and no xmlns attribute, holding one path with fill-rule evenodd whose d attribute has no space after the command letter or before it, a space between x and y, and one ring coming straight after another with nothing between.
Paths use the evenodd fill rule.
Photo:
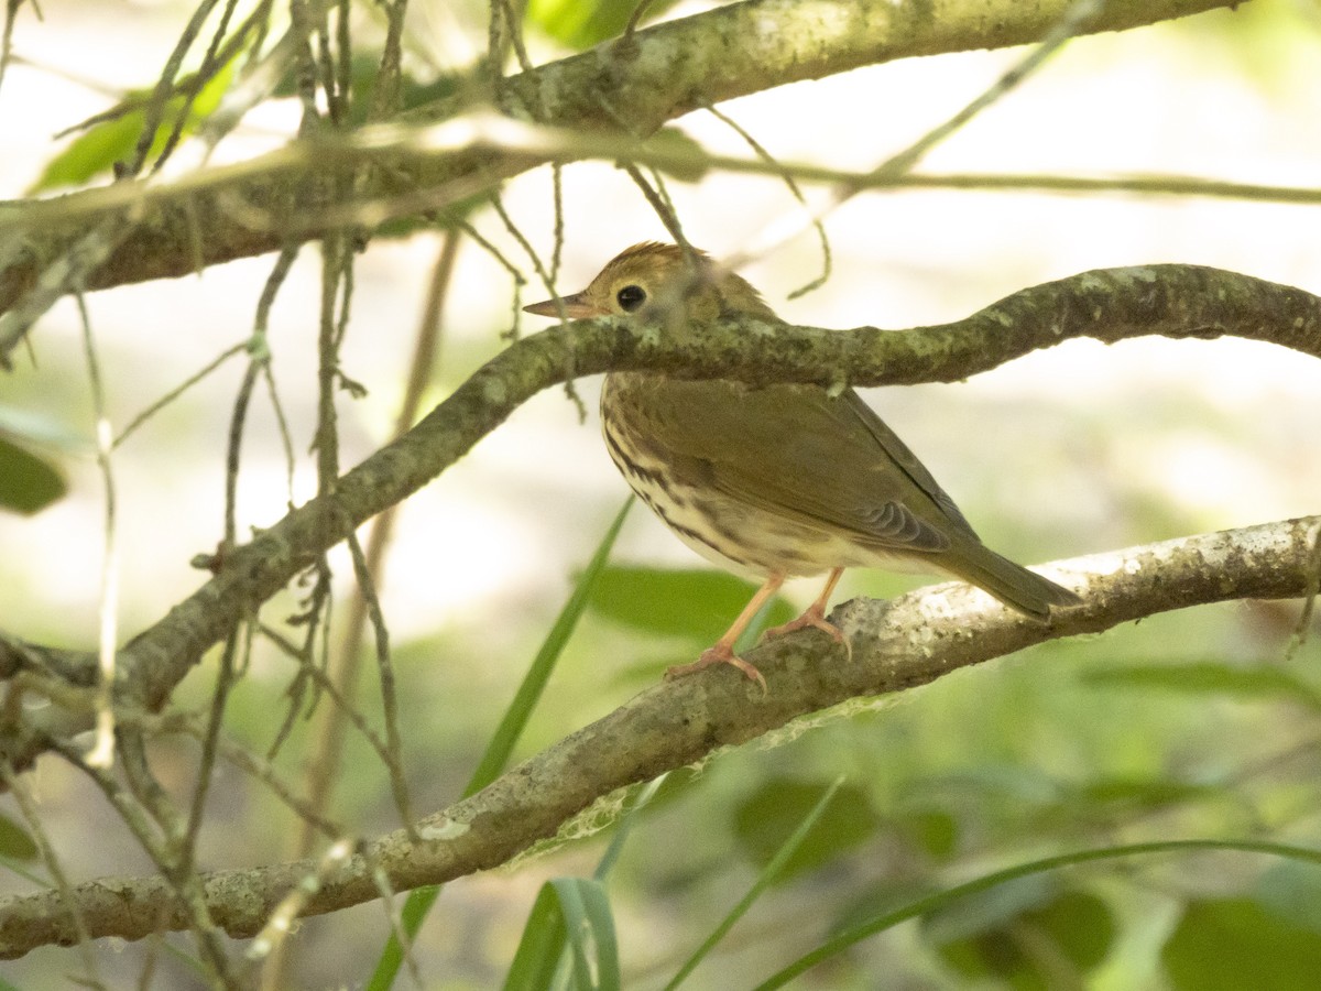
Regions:
<instances>
[{"instance_id":1,"label":"small olive-brown songbird with streaked breast and pink legs","mask_svg":"<svg viewBox=\"0 0 1321 991\"><path fill-rule=\"evenodd\" d=\"M630 247L583 292L528 313L633 316L660 326L745 313L781 322L744 279L674 244ZM731 663L757 610L791 576L830 572L820 597L768 636L815 626L845 650L826 620L844 568L946 572L1036 620L1081 600L989 550L913 452L852 388L752 387L614 371L601 390L601 428L633 490L704 558L764 580L715 646L667 677Z\"/></svg>"}]
</instances>

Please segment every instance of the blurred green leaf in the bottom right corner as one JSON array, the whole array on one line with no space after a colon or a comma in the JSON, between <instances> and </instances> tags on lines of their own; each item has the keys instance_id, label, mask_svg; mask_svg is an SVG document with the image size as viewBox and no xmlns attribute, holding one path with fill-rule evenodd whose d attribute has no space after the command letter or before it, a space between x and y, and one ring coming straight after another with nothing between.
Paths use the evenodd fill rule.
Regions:
<instances>
[{"instance_id":1,"label":"blurred green leaf in the bottom right corner","mask_svg":"<svg viewBox=\"0 0 1321 991\"><path fill-rule=\"evenodd\" d=\"M1174 991L1299 991L1321 975L1321 939L1251 899L1194 901L1161 951Z\"/></svg>"}]
</instances>

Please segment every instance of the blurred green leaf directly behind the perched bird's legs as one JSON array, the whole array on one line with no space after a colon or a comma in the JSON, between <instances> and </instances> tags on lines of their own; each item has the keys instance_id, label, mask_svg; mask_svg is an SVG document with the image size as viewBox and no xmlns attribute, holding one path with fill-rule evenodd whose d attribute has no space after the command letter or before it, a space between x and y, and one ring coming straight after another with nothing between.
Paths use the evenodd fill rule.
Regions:
<instances>
[{"instance_id":1,"label":"blurred green leaf directly behind the perched bird's legs","mask_svg":"<svg viewBox=\"0 0 1321 991\"><path fill-rule=\"evenodd\" d=\"M662 637L709 643L748 605L757 587L723 571L609 567L589 605L616 622ZM768 625L789 622L794 608L771 600Z\"/></svg>"}]
</instances>

